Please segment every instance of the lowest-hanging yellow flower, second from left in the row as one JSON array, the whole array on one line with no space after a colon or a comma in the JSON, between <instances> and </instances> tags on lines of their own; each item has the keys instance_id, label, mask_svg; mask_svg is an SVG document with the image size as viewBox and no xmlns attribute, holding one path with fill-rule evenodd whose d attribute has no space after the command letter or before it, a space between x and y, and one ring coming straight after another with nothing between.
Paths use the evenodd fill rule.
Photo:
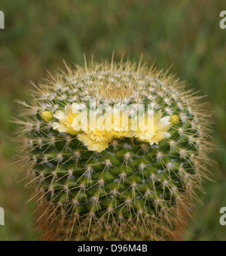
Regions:
<instances>
[{"instance_id":1,"label":"lowest-hanging yellow flower, second from left in the row","mask_svg":"<svg viewBox=\"0 0 226 256\"><path fill-rule=\"evenodd\" d=\"M100 153L108 147L108 143L112 140L112 134L111 131L96 127L90 131L84 131L83 134L78 134L78 140L83 142L88 150Z\"/></svg>"}]
</instances>

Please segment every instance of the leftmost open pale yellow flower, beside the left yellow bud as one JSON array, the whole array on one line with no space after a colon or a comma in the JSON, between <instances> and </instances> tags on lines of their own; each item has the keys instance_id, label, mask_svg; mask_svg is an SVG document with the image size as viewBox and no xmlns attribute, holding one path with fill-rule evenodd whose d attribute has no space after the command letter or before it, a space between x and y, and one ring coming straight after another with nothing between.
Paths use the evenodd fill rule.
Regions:
<instances>
[{"instance_id":1,"label":"leftmost open pale yellow flower, beside the left yellow bud","mask_svg":"<svg viewBox=\"0 0 226 256\"><path fill-rule=\"evenodd\" d=\"M59 122L53 122L53 129L59 132L77 135L81 133L81 112L79 104L67 105L65 111L57 110L53 115Z\"/></svg>"}]
</instances>

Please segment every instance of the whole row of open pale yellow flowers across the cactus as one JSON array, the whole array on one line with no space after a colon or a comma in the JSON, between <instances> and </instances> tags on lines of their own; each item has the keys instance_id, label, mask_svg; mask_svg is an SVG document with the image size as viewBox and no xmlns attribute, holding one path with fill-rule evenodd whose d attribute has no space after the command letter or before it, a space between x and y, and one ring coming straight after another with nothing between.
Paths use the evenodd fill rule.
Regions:
<instances>
[{"instance_id":1,"label":"whole row of open pale yellow flowers across the cactus","mask_svg":"<svg viewBox=\"0 0 226 256\"><path fill-rule=\"evenodd\" d=\"M170 116L162 117L159 110L154 113L151 105L145 111L145 104L114 106L101 105L97 109L90 101L89 113L83 104L72 103L64 111L56 110L53 117L53 129L72 135L87 146L88 150L102 152L114 139L136 137L150 145L158 144L164 138L170 138L167 132L171 126ZM94 105L94 107L92 107ZM47 113L46 113L47 114Z\"/></svg>"}]
</instances>

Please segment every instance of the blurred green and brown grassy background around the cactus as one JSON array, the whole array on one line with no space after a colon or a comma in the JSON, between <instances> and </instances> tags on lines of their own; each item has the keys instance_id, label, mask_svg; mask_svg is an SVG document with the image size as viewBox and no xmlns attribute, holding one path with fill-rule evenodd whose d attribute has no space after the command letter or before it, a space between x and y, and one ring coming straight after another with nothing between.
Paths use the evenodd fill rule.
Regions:
<instances>
[{"instance_id":1,"label":"blurred green and brown grassy background around the cactus","mask_svg":"<svg viewBox=\"0 0 226 256\"><path fill-rule=\"evenodd\" d=\"M26 100L30 81L37 83L66 63L84 63L94 56L115 60L121 54L177 73L191 88L207 95L212 136L219 150L211 155L212 180L206 181L203 204L197 203L185 239L226 240L219 210L226 206L226 29L220 29L224 0L2 0L5 29L0 30L0 207L5 226L0 240L39 239L29 190L20 183L17 165L10 165L17 117L14 99Z\"/></svg>"}]
</instances>

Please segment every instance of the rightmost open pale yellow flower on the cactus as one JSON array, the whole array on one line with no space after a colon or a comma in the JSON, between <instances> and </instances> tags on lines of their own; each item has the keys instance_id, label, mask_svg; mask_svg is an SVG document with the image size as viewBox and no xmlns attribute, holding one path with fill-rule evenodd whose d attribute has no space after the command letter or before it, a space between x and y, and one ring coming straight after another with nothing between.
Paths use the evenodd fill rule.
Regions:
<instances>
[{"instance_id":1,"label":"rightmost open pale yellow flower on the cactus","mask_svg":"<svg viewBox=\"0 0 226 256\"><path fill-rule=\"evenodd\" d=\"M150 143L150 145L158 144L166 137L170 137L170 133L167 132L172 126L170 116L164 116L163 118L161 116L161 111L154 113L149 119L145 116L144 122L142 124L139 123L137 131L134 131L135 137Z\"/></svg>"}]
</instances>

